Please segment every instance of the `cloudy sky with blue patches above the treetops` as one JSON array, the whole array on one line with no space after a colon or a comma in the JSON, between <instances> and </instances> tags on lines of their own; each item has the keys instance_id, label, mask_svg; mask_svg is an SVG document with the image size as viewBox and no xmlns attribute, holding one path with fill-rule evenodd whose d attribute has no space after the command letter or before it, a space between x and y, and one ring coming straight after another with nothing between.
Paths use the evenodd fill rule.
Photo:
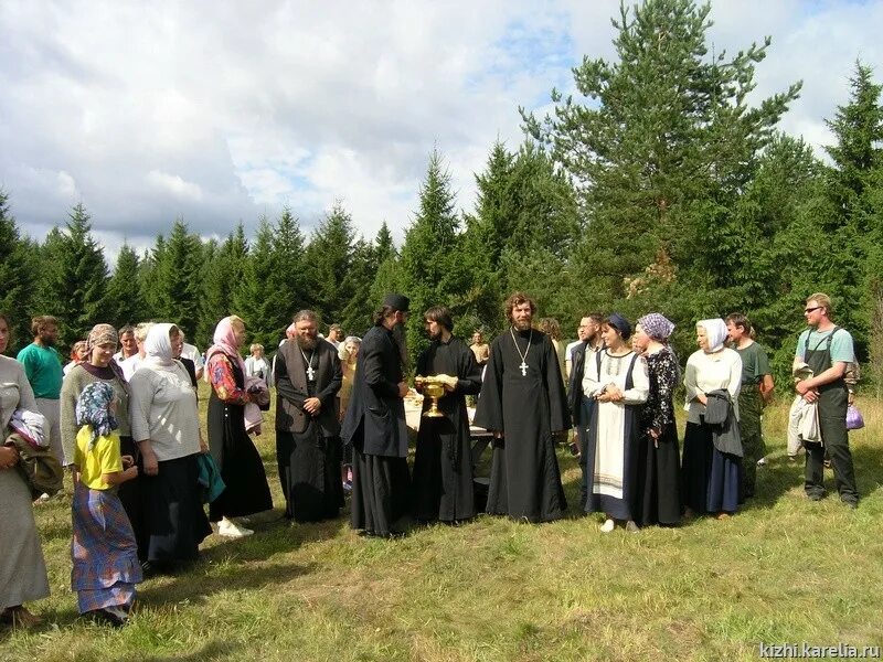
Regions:
<instances>
[{"instance_id":1,"label":"cloudy sky with blue patches above the treetops","mask_svg":"<svg viewBox=\"0 0 883 662\"><path fill-rule=\"evenodd\" d=\"M518 107L609 57L618 0L0 0L0 189L42 239L83 202L113 259L182 217L203 236L336 200L373 237L411 222L437 147L457 201ZM715 0L711 45L773 36L757 94L804 81L783 128L813 146L857 57L883 81L883 0Z\"/></svg>"}]
</instances>

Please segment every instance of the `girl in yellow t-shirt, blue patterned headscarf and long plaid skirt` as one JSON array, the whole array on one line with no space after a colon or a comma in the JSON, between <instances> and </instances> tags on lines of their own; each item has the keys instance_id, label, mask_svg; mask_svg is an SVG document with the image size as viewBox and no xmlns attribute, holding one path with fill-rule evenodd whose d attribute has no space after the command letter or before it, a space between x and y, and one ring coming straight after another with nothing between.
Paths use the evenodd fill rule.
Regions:
<instances>
[{"instance_id":1,"label":"girl in yellow t-shirt, blue patterned headscarf and long plaid skirt","mask_svg":"<svg viewBox=\"0 0 883 662\"><path fill-rule=\"evenodd\" d=\"M106 382L88 384L76 404L82 427L74 450L79 477L72 505L71 587L81 613L118 627L128 620L141 565L135 533L116 494L116 485L138 477L138 467L130 456L120 456L115 405Z\"/></svg>"}]
</instances>

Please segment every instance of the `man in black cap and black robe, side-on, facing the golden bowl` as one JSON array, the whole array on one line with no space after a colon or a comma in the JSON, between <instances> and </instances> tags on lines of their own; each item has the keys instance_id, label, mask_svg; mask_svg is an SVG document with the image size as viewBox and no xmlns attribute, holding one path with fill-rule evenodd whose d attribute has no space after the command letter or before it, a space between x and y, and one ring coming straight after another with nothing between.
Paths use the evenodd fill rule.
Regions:
<instances>
[{"instance_id":1,"label":"man in black cap and black robe, side-on, facing the golden bowl","mask_svg":"<svg viewBox=\"0 0 883 662\"><path fill-rule=\"evenodd\" d=\"M402 345L407 297L387 295L362 338L341 436L353 448L352 527L365 535L404 533L411 478Z\"/></svg>"}]
</instances>

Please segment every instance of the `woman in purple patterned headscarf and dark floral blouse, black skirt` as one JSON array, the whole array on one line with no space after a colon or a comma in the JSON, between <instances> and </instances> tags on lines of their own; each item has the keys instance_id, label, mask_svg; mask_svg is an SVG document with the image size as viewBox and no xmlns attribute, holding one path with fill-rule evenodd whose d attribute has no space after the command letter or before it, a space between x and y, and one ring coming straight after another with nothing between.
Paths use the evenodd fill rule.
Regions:
<instances>
[{"instance_id":1,"label":"woman in purple patterned headscarf and dark floral blouse, black skirt","mask_svg":"<svg viewBox=\"0 0 883 662\"><path fill-rule=\"evenodd\" d=\"M650 395L641 409L643 434L638 451L638 524L672 526L681 521L681 465L674 425L674 388L681 376L668 339L674 324L658 312L638 320L631 346L643 354Z\"/></svg>"}]
</instances>

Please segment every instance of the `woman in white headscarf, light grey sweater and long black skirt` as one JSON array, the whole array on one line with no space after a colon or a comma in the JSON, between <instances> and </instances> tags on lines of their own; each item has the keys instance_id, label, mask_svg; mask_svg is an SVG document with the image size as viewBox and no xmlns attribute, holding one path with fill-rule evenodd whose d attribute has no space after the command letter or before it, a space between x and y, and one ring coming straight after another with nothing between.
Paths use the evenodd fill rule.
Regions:
<instances>
[{"instance_id":1,"label":"woman in white headscarf, light grey sweater and long black skirt","mask_svg":"<svg viewBox=\"0 0 883 662\"><path fill-rule=\"evenodd\" d=\"M172 359L182 342L174 324L155 324L129 382L131 434L143 463L146 560L157 570L195 559L212 532L199 485L198 457L208 447L196 393L184 366Z\"/></svg>"}]
</instances>

